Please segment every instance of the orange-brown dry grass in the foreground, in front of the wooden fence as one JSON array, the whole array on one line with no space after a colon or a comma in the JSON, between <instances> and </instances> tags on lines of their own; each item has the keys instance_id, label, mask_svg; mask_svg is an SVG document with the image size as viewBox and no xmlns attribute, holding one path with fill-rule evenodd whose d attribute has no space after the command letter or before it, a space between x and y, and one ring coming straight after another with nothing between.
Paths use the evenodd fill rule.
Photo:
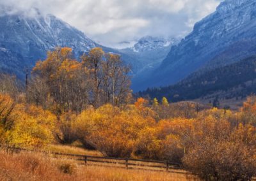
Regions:
<instances>
[{"instance_id":1,"label":"orange-brown dry grass in the foreground, in front of the wooden fence","mask_svg":"<svg viewBox=\"0 0 256 181\"><path fill-rule=\"evenodd\" d=\"M0 152L0 180L196 180L179 173L125 170L97 166L74 166L72 172L63 171L60 165L67 161L52 159L44 154Z\"/></svg>"}]
</instances>

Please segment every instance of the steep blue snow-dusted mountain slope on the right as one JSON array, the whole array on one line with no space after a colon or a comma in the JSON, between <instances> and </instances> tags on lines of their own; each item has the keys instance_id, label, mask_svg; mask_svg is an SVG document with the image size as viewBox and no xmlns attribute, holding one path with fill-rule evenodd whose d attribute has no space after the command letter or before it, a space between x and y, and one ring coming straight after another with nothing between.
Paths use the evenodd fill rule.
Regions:
<instances>
[{"instance_id":1,"label":"steep blue snow-dusted mountain slope on the right","mask_svg":"<svg viewBox=\"0 0 256 181\"><path fill-rule=\"evenodd\" d=\"M199 69L209 71L254 55L255 28L255 0L222 2L171 48L159 68L138 83L140 89L172 85Z\"/></svg>"}]
</instances>

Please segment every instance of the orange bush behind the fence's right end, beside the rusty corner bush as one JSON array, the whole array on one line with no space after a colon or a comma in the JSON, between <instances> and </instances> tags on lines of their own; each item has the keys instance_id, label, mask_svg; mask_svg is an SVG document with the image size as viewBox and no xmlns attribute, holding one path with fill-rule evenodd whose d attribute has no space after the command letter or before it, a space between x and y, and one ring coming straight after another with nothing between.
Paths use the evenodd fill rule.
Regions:
<instances>
[{"instance_id":1,"label":"orange bush behind the fence's right end, beside the rusty corner bush","mask_svg":"<svg viewBox=\"0 0 256 181\"><path fill-rule=\"evenodd\" d=\"M180 162L187 145L187 136L193 131L193 120L161 120L152 127L145 127L136 144L138 152L150 159L168 159Z\"/></svg>"}]
</instances>

